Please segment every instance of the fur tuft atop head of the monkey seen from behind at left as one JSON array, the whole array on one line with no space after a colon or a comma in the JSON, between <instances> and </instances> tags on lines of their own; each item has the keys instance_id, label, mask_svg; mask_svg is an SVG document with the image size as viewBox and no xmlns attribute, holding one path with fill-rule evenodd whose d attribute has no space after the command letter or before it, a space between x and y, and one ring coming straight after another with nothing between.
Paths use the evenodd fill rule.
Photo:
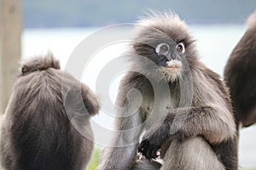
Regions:
<instances>
[{"instance_id":1,"label":"fur tuft atop head of the monkey seen from behind at left","mask_svg":"<svg viewBox=\"0 0 256 170\"><path fill-rule=\"evenodd\" d=\"M59 60L55 59L51 52L44 56L35 56L22 62L22 74L34 71L45 71L49 68L61 69Z\"/></svg>"}]
</instances>

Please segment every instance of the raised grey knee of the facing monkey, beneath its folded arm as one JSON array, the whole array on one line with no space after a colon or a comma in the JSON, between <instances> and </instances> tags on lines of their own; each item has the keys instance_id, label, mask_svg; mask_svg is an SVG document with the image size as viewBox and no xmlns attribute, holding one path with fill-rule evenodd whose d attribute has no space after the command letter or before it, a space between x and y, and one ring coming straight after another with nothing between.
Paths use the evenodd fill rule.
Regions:
<instances>
[{"instance_id":1,"label":"raised grey knee of the facing monkey, beneath its folded arm","mask_svg":"<svg viewBox=\"0 0 256 170\"><path fill-rule=\"evenodd\" d=\"M160 170L224 170L211 146L201 137L174 139Z\"/></svg>"}]
</instances>

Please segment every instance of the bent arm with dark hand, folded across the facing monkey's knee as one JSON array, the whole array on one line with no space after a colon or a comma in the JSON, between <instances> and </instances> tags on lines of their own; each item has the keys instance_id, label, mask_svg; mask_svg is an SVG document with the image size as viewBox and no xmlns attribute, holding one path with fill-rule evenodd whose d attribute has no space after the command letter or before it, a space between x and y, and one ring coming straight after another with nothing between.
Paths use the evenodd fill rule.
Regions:
<instances>
[{"instance_id":1,"label":"bent arm with dark hand, folded across the facing monkey's knee","mask_svg":"<svg viewBox=\"0 0 256 170\"><path fill-rule=\"evenodd\" d=\"M228 123L225 114L230 112L219 113L211 106L173 110L164 122L151 127L143 136L139 151L148 159L155 158L157 150L171 136L182 141L200 135L211 144L221 143L236 133L235 122Z\"/></svg>"}]
</instances>

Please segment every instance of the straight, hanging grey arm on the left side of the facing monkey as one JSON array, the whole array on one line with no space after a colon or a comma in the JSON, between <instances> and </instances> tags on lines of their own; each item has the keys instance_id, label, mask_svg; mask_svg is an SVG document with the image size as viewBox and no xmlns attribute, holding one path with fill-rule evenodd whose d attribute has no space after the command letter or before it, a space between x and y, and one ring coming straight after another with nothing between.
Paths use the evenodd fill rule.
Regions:
<instances>
[{"instance_id":1,"label":"straight, hanging grey arm on the left side of the facing monkey","mask_svg":"<svg viewBox=\"0 0 256 170\"><path fill-rule=\"evenodd\" d=\"M98 170L131 170L137 159L137 144L144 128L142 122L147 115L142 105L151 94L154 91L145 77L133 72L124 77L116 99L116 132L111 144L102 151Z\"/></svg>"}]
</instances>

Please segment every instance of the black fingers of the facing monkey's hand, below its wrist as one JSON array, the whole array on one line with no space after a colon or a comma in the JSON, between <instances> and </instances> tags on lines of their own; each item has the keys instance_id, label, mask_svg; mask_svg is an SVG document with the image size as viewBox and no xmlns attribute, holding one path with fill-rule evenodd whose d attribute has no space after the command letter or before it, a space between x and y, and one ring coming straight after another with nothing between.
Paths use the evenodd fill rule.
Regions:
<instances>
[{"instance_id":1,"label":"black fingers of the facing monkey's hand, below its wrist","mask_svg":"<svg viewBox=\"0 0 256 170\"><path fill-rule=\"evenodd\" d=\"M138 146L138 151L143 154L148 160L158 157L160 144L152 144L149 139L143 139Z\"/></svg>"}]
</instances>

